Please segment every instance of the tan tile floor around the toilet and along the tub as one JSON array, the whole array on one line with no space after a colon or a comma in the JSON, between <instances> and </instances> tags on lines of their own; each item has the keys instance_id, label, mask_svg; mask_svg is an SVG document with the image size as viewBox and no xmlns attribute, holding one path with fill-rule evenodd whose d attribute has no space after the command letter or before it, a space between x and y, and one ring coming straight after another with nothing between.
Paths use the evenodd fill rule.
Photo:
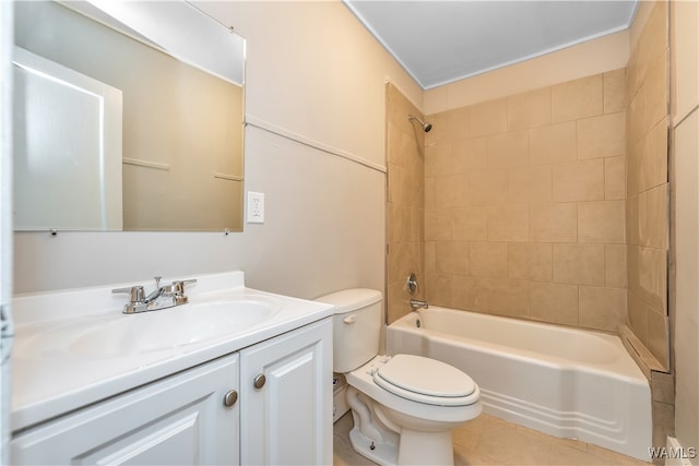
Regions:
<instances>
[{"instance_id":1,"label":"tan tile floor around the toilet and along the tub","mask_svg":"<svg viewBox=\"0 0 699 466\"><path fill-rule=\"evenodd\" d=\"M334 426L334 466L374 465L352 450L352 414ZM453 432L454 464L648 466L639 459L577 440L558 439L493 416L481 415Z\"/></svg>"}]
</instances>

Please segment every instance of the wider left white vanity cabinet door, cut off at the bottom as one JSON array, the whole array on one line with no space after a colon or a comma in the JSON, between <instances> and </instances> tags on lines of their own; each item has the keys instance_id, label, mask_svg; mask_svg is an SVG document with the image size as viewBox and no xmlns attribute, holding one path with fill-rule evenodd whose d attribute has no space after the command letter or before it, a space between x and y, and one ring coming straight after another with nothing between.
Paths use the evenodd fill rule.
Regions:
<instances>
[{"instance_id":1,"label":"wider left white vanity cabinet door, cut off at the bottom","mask_svg":"<svg viewBox=\"0 0 699 466\"><path fill-rule=\"evenodd\" d=\"M11 463L238 464L238 374L235 354L46 422L12 439Z\"/></svg>"}]
</instances>

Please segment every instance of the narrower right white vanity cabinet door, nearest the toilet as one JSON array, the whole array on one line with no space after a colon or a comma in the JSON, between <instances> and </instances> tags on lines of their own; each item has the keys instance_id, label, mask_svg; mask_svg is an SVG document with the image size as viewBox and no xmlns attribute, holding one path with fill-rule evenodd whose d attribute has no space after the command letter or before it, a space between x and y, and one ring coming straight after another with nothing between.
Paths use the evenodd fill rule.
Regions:
<instances>
[{"instance_id":1,"label":"narrower right white vanity cabinet door, nearest the toilet","mask_svg":"<svg viewBox=\"0 0 699 466\"><path fill-rule=\"evenodd\" d=\"M240 462L332 464L332 321L240 351Z\"/></svg>"}]
</instances>

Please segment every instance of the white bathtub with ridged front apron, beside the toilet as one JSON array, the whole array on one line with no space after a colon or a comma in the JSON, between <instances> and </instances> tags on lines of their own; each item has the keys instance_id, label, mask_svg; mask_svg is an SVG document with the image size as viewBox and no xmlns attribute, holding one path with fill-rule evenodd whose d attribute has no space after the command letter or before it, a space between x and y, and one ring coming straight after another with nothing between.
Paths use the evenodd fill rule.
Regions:
<instances>
[{"instance_id":1,"label":"white bathtub with ridged front apron, beside the toilet","mask_svg":"<svg viewBox=\"0 0 699 466\"><path fill-rule=\"evenodd\" d=\"M650 459L650 386L614 335L430 307L389 325L387 350L466 372L484 413Z\"/></svg>"}]
</instances>

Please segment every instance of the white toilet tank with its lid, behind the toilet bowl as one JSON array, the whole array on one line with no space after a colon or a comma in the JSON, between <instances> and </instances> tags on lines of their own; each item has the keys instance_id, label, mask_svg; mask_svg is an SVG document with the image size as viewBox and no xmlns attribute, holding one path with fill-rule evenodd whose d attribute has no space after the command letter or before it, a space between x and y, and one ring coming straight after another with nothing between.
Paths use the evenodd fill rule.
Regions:
<instances>
[{"instance_id":1,"label":"white toilet tank with its lid, behind the toilet bowl","mask_svg":"<svg viewBox=\"0 0 699 466\"><path fill-rule=\"evenodd\" d=\"M333 372L351 372L379 354L381 291L344 289L316 299L335 307Z\"/></svg>"}]
</instances>

